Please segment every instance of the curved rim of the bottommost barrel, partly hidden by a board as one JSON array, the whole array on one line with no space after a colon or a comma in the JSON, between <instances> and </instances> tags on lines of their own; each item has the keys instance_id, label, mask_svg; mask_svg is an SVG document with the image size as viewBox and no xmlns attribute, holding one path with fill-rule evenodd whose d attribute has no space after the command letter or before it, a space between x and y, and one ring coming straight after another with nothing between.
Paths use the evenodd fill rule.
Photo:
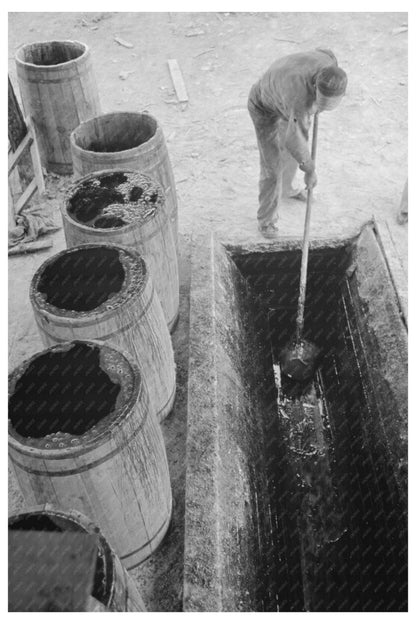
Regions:
<instances>
[{"instance_id":1,"label":"curved rim of the bottommost barrel, partly hidden by a board","mask_svg":"<svg viewBox=\"0 0 416 624\"><path fill-rule=\"evenodd\" d=\"M58 505L53 505L52 503L45 503L44 505L30 505L29 507L24 507L22 510L17 511L16 513L11 513L8 515L8 529L10 528L9 523L11 521L15 521L20 517L24 516L32 516L32 515L45 515L45 516L59 516L64 518L65 520L72 522L73 524L81 527L85 533L91 535L97 535L99 545L104 554L104 560L106 565L106 585L105 585L105 606L111 605L111 601L113 600L115 584L116 584L116 566L115 566L115 552L111 547L111 544L106 539L105 535L102 533L98 524L96 524L93 520L91 520L88 516L78 511L77 509L61 509ZM97 553L98 557L98 553ZM92 595L92 592L91 592Z\"/></svg>"}]
</instances>

